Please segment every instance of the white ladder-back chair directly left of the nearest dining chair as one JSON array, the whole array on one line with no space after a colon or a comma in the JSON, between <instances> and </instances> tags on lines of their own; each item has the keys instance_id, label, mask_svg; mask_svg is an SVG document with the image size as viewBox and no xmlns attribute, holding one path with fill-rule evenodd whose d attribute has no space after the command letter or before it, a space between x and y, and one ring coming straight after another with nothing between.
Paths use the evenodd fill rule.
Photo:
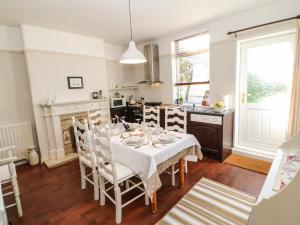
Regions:
<instances>
[{"instance_id":1,"label":"white ladder-back chair directly left of the nearest dining chair","mask_svg":"<svg viewBox=\"0 0 300 225\"><path fill-rule=\"evenodd\" d=\"M90 139L90 130L88 122L85 119L83 124L76 121L75 117L72 117L74 135L76 140L77 152L79 155L79 167L81 176L81 188L86 188L86 182L88 181L94 186L94 199L99 199L99 182L98 173L96 168L96 157L92 150L92 144ZM91 169L91 173L86 173L86 168ZM90 179L92 177L92 179Z\"/></svg>"}]
</instances>

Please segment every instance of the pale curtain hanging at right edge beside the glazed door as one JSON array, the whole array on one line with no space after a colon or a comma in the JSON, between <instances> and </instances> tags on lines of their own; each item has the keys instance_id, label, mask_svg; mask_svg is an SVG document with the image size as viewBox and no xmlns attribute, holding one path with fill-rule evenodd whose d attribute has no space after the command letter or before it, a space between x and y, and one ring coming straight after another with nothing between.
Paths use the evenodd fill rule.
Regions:
<instances>
[{"instance_id":1,"label":"pale curtain hanging at right edge beside the glazed door","mask_svg":"<svg viewBox=\"0 0 300 225\"><path fill-rule=\"evenodd\" d=\"M288 138L293 137L300 129L300 27L298 20L296 24L295 62L287 130Z\"/></svg>"}]
</instances>

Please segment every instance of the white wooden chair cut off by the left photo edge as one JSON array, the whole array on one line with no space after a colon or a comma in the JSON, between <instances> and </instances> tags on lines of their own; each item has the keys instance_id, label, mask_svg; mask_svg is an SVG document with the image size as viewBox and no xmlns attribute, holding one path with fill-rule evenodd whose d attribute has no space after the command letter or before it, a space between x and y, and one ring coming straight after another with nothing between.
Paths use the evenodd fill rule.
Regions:
<instances>
[{"instance_id":1,"label":"white wooden chair cut off by the left photo edge","mask_svg":"<svg viewBox=\"0 0 300 225\"><path fill-rule=\"evenodd\" d=\"M16 151L15 146L9 146L0 149L1 154L6 154L6 158L0 159L0 181L2 185L3 197L8 195L14 195L15 203L5 205L5 208L13 206L17 207L18 216L23 216L22 205L20 200L20 190L17 180L17 172L14 164L14 160L17 160L16 156L13 156L13 151ZM7 186L7 184L11 184Z\"/></svg>"}]
</instances>

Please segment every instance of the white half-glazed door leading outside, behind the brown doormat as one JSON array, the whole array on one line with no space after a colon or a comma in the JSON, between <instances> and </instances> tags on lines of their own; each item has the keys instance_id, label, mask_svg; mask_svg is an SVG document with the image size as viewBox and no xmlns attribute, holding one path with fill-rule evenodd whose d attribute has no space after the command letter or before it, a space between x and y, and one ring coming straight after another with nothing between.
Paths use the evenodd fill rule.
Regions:
<instances>
[{"instance_id":1,"label":"white half-glazed door leading outside, behind the brown doormat","mask_svg":"<svg viewBox=\"0 0 300 225\"><path fill-rule=\"evenodd\" d=\"M239 148L275 151L285 140L294 34L240 42Z\"/></svg>"}]
</instances>

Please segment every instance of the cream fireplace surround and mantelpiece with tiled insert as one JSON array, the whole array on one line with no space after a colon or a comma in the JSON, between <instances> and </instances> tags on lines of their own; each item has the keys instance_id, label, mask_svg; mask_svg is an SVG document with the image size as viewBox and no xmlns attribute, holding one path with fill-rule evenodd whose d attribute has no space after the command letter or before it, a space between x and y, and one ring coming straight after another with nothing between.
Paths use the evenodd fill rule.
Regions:
<instances>
[{"instance_id":1,"label":"cream fireplace surround and mantelpiece with tiled insert","mask_svg":"<svg viewBox=\"0 0 300 225\"><path fill-rule=\"evenodd\" d=\"M76 153L76 144L72 127L72 116L78 120L88 117L89 112L108 108L108 101L103 99L59 102L42 105L49 143L48 155L42 160L57 160Z\"/></svg>"}]
</instances>

